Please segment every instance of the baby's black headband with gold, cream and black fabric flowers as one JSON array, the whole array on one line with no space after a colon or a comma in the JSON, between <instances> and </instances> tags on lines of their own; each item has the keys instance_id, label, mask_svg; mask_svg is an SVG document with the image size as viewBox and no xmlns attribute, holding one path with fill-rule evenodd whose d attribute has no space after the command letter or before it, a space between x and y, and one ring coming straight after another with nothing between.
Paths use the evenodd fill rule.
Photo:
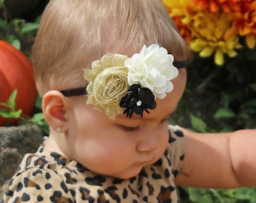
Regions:
<instances>
[{"instance_id":1,"label":"baby's black headband with gold, cream and black fabric flowers","mask_svg":"<svg viewBox=\"0 0 256 203\"><path fill-rule=\"evenodd\" d=\"M175 65L173 65L175 64ZM65 96L88 94L87 104L93 105L111 119L118 114L143 116L144 111L157 107L155 98L164 98L171 92L170 80L178 76L178 68L187 62L174 62L164 47L151 44L142 47L131 58L115 53L106 54L84 70L89 82L86 88L62 90ZM176 66L176 67L175 67Z\"/></svg>"}]
</instances>

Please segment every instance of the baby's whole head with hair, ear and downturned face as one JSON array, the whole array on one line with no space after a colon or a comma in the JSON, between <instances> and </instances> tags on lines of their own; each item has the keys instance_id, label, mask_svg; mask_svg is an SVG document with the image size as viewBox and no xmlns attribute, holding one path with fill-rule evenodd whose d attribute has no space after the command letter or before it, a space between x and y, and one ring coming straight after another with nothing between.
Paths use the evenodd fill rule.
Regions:
<instances>
[{"instance_id":1,"label":"baby's whole head with hair, ear and downturned face","mask_svg":"<svg viewBox=\"0 0 256 203\"><path fill-rule=\"evenodd\" d=\"M133 71L138 56L134 54L141 50L140 56L147 55L151 79L159 77L154 89L147 80L132 85L138 76ZM50 126L45 147L91 171L120 178L132 177L144 165L156 162L166 150L168 117L186 82L185 68L175 69L168 53L175 61L188 56L187 44L160 0L51 0L32 55L44 118ZM118 79L102 85L103 79L112 77ZM117 92L117 102L108 96L97 102L99 92L94 87L98 85L103 95ZM158 85L166 89L158 91ZM88 96L81 95L85 88ZM80 96L70 97L74 92Z\"/></svg>"}]
</instances>

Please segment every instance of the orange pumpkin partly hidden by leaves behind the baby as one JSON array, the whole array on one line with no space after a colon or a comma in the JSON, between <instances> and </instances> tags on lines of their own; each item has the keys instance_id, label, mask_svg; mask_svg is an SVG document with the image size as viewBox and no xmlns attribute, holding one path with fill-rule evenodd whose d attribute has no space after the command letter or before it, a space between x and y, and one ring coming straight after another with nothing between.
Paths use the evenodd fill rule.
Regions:
<instances>
[{"instance_id":1,"label":"orange pumpkin partly hidden by leaves behind the baby","mask_svg":"<svg viewBox=\"0 0 256 203\"><path fill-rule=\"evenodd\" d=\"M0 102L7 102L14 89L17 89L16 110L22 109L22 114L31 114L38 95L32 62L20 50L0 40ZM0 116L0 126L6 122Z\"/></svg>"}]
</instances>

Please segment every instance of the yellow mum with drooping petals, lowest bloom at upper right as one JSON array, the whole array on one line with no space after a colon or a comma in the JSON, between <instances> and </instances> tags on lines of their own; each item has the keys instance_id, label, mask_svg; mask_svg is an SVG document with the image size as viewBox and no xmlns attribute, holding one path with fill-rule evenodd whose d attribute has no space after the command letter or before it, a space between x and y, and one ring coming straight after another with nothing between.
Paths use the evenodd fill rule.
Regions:
<instances>
[{"instance_id":1,"label":"yellow mum with drooping petals, lowest bloom at upper right","mask_svg":"<svg viewBox=\"0 0 256 203\"><path fill-rule=\"evenodd\" d=\"M215 64L224 64L224 54L236 56L235 49L242 47L235 29L230 28L227 14L216 12L212 14L204 11L204 15L194 22L196 38L190 41L192 50L200 52L200 56L207 57L215 53Z\"/></svg>"}]
</instances>

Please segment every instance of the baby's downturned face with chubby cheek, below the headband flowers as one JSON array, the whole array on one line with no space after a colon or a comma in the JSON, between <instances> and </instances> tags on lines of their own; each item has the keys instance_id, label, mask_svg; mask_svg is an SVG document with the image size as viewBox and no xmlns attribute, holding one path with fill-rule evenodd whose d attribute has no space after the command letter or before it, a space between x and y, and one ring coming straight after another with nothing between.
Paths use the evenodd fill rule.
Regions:
<instances>
[{"instance_id":1,"label":"baby's downturned face with chubby cheek, below the headband flowers","mask_svg":"<svg viewBox=\"0 0 256 203\"><path fill-rule=\"evenodd\" d=\"M123 179L139 174L145 165L156 162L169 141L168 117L184 92L185 69L181 68L172 81L173 91L157 99L157 108L142 118L136 114L127 118L122 114L110 120L93 106L86 105L81 96L72 103L68 113L66 156L91 171Z\"/></svg>"}]
</instances>

